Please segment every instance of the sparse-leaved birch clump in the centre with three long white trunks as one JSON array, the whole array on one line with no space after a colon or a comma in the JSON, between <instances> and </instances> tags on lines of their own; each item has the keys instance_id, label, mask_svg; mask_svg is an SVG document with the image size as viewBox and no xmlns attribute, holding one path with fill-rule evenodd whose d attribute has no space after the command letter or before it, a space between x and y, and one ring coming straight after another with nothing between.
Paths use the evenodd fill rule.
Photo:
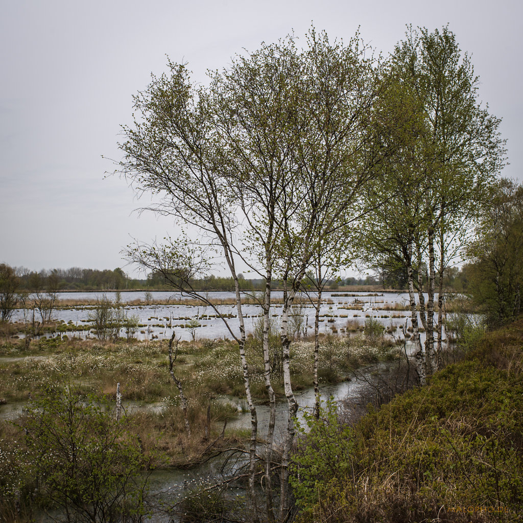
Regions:
<instances>
[{"instance_id":1,"label":"sparse-leaved birch clump in the centre with three long white trunks","mask_svg":"<svg viewBox=\"0 0 523 523\"><path fill-rule=\"evenodd\" d=\"M370 166L381 161L383 152L375 146L375 129L369 124L379 84L366 52L358 36L344 45L312 30L304 49L297 48L293 37L264 44L234 58L228 69L211 73L209 86L199 88L190 83L184 65L169 63L170 72L153 77L149 88L135 97L137 120L124 127L127 141L120 147L126 158L119 172L139 193L152 192L156 204L151 210L196 231L196 237L131 246L129 259L210 306L190 281L207 270L212 249L224 258L235 281L240 333L227 325L240 346L252 414L253 519L257 418L236 265L241 259L265 280L260 305L270 404L266 516L283 521L289 514L288 465L298 409L290 374L289 312L315 253L326 245L321 238L339 237L360 212L362 190L375 173ZM286 289L280 337L288 402L278 511L271 485L276 397L268 343L275 277Z\"/></svg>"}]
</instances>

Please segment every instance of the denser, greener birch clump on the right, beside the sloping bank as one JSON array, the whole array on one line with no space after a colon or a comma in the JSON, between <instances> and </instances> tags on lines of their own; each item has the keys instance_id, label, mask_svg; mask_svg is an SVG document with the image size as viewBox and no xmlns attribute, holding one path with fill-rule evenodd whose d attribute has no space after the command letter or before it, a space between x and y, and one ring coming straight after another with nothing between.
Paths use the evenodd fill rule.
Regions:
<instances>
[{"instance_id":1,"label":"denser, greener birch clump on the right, beside the sloping bank","mask_svg":"<svg viewBox=\"0 0 523 523\"><path fill-rule=\"evenodd\" d=\"M444 272L476 217L477 202L503 165L504 141L498 133L500 120L479 101L479 79L470 58L447 27L431 33L410 27L391 55L384 82L389 90L382 113L397 122L386 146L393 144L396 153L373 197L374 202L385 201L389 191L390 199L376 215L370 244L375 253L392 254L407 268L418 377L423 381L415 287L426 332L423 372L431 374L440 363ZM404 119L407 110L411 116Z\"/></svg>"}]
</instances>

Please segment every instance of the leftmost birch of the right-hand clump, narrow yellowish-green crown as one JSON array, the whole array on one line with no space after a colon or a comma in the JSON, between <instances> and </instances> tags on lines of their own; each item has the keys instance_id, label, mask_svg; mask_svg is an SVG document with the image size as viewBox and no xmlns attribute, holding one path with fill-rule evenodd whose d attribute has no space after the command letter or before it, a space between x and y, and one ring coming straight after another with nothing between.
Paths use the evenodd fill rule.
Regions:
<instances>
[{"instance_id":1,"label":"leftmost birch of the right-hand clump, narrow yellowish-green crown","mask_svg":"<svg viewBox=\"0 0 523 523\"><path fill-rule=\"evenodd\" d=\"M402 82L393 64L382 75L383 96L376 109L381 146L388 150L378 164L378 176L366 192L367 208L373 211L361 222L360 243L366 246L368 265L395 260L407 272L413 328L414 356L419 383L425 383L426 361L420 342L416 310L416 241L427 228L423 184L424 151L420 136L425 122L410 86Z\"/></svg>"}]
</instances>

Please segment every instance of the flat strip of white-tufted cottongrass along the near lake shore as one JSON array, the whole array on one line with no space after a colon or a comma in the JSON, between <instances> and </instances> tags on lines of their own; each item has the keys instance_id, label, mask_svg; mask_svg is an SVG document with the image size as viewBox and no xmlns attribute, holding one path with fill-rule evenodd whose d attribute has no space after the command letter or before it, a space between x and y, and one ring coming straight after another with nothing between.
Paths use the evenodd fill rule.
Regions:
<instances>
[{"instance_id":1,"label":"flat strip of white-tufted cottongrass along the near lake shore","mask_svg":"<svg viewBox=\"0 0 523 523\"><path fill-rule=\"evenodd\" d=\"M357 336L323 335L320 368L328 367L330 377L324 374L324 380L344 379L350 368L366 362L361 350L368 350L374 358L371 345L379 347L383 343L381 338L372 339L372 343L361 349ZM5 361L0 358L5 377L0 381L0 398L5 401L26 400L29 393L46 389L62 376L73 379L85 392L101 392L109 399L116 397L116 383L120 383L124 401L153 403L177 395L168 374L166 342L100 342L56 337L32 340L29 351L24 347L22 340L0 345L1 354L6 356ZM263 403L266 396L263 356L253 337L249 338L246 350L253 394ZM359 351L358 357L355 351ZM310 386L312 361L311 339L292 344L291 371L297 390ZM236 344L228 340L180 342L175 371L184 388L205 401L220 394L244 396L240 356ZM282 380L275 376L274 382L277 393L283 395Z\"/></svg>"}]
</instances>

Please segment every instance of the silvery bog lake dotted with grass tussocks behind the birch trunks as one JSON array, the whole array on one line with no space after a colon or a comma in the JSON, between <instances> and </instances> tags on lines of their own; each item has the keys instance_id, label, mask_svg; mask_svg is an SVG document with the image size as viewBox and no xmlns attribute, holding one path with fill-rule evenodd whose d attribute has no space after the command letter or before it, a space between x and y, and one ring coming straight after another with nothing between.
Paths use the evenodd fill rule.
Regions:
<instances>
[{"instance_id":1,"label":"silvery bog lake dotted with grass tussocks behind the birch trunks","mask_svg":"<svg viewBox=\"0 0 523 523\"><path fill-rule=\"evenodd\" d=\"M239 322L237 318L236 305L231 303L235 295L233 292L215 291L204 293L209 300L215 303L215 309L210 305L192 305L184 303L190 298L180 292L153 291L151 304L145 299L144 291L121 292L121 306L126 313L138 317L140 328L135 334L137 339L165 339L170 338L173 329L176 337L182 340L190 340L192 335L188 329L188 322L195 317L201 325L196 329L196 339L208 338L218 339L231 337L228 328L220 314L226 317L233 332L239 332ZM115 292L59 292L59 309L53 312L53 320L69 324L74 327L88 326L89 316L92 315L93 306L97 299L107 296L107 299L115 302L117 294ZM245 298L252 298L252 293L245 293ZM282 291L273 291L272 299L275 302L283 298ZM255 295L256 297L256 295ZM260 298L261 294L258 293ZM306 294L298 294L300 305L295 305L292 313L303 316L303 334L313 333L314 328L314 305ZM314 298L311 296L311 298ZM72 305L65 308L61 303L67 301L85 302L82 305ZM156 303L155 303L156 302ZM162 302L158 304L157 302ZM228 302L228 303L220 303ZM230 304L231 303L231 304ZM323 333L346 332L347 321L363 326L367 318L372 317L384 325L384 327L399 327L405 324L405 320L410 318L410 311L402 310L408 306L408 294L397 292L324 292L322 295L322 305L320 310L320 331ZM272 305L272 316L278 321L281 315L281 304ZM244 304L243 314L247 333L252 333L261 314L261 308L255 304ZM16 310L12 321L24 321L24 311ZM410 324L410 319L408 320ZM60 335L94 337L95 334L88 329L84 331L63 331ZM56 334L48 333L47 336ZM123 331L121 333L123 335Z\"/></svg>"}]
</instances>

